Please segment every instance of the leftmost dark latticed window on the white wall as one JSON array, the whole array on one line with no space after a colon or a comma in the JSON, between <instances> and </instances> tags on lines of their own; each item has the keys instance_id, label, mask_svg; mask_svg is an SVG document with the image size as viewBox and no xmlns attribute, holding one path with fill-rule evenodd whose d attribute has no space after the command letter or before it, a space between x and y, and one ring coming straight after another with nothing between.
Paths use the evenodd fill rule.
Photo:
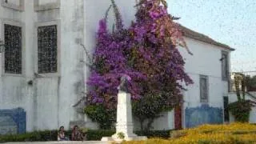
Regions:
<instances>
[{"instance_id":1,"label":"leftmost dark latticed window on the white wall","mask_svg":"<svg viewBox=\"0 0 256 144\"><path fill-rule=\"evenodd\" d=\"M22 27L4 25L5 73L22 74Z\"/></svg>"}]
</instances>

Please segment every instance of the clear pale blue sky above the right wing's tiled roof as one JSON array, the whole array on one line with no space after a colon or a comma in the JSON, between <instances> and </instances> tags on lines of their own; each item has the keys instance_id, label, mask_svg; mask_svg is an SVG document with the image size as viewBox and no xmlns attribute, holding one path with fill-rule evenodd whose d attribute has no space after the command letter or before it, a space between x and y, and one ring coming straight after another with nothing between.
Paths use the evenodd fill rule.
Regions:
<instances>
[{"instance_id":1,"label":"clear pale blue sky above the right wing's tiled roof","mask_svg":"<svg viewBox=\"0 0 256 144\"><path fill-rule=\"evenodd\" d=\"M232 71L256 70L256 0L167 0L183 26L236 49Z\"/></svg>"}]
</instances>

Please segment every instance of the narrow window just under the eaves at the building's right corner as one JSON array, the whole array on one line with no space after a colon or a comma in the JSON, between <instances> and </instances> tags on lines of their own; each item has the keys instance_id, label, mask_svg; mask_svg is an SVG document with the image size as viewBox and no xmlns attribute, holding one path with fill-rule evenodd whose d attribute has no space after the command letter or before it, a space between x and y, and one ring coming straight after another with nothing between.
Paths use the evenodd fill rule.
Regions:
<instances>
[{"instance_id":1,"label":"narrow window just under the eaves at the building's right corner","mask_svg":"<svg viewBox=\"0 0 256 144\"><path fill-rule=\"evenodd\" d=\"M226 51L222 51L222 80L227 81L229 78L229 57Z\"/></svg>"}]
</instances>

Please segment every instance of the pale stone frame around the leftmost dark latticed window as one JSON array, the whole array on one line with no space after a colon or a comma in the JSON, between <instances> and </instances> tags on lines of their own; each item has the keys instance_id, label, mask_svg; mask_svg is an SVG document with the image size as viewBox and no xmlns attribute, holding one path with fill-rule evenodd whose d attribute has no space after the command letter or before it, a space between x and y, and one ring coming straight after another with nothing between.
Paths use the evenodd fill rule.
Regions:
<instances>
[{"instance_id":1,"label":"pale stone frame around the leftmost dark latticed window","mask_svg":"<svg viewBox=\"0 0 256 144\"><path fill-rule=\"evenodd\" d=\"M24 77L26 75L26 40L25 40L25 24L23 22L18 22L10 19L2 20L2 40L5 42L5 24L11 26L19 26L22 28L22 74L10 74L6 73L5 69L5 54L2 53L2 76L19 76Z\"/></svg>"}]
</instances>

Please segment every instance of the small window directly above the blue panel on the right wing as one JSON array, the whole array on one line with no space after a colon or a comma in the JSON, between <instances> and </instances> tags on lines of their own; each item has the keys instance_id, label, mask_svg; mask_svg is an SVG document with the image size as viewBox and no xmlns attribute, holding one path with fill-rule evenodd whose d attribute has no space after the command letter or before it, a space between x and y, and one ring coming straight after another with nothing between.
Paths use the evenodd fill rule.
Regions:
<instances>
[{"instance_id":1,"label":"small window directly above the blue panel on the right wing","mask_svg":"<svg viewBox=\"0 0 256 144\"><path fill-rule=\"evenodd\" d=\"M208 102L208 77L200 75L200 102Z\"/></svg>"}]
</instances>

